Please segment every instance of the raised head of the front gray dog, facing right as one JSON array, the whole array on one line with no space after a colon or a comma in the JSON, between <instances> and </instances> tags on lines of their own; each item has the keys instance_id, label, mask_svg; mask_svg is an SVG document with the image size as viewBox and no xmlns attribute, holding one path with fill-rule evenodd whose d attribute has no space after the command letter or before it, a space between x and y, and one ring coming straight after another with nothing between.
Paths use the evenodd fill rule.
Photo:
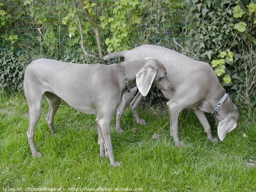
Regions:
<instances>
[{"instance_id":1,"label":"raised head of the front gray dog, facing right","mask_svg":"<svg viewBox=\"0 0 256 192\"><path fill-rule=\"evenodd\" d=\"M166 68L155 58L145 58L146 63L136 75L136 84L143 96L148 94L152 84L162 91L170 91L173 86L167 77Z\"/></svg>"}]
</instances>

